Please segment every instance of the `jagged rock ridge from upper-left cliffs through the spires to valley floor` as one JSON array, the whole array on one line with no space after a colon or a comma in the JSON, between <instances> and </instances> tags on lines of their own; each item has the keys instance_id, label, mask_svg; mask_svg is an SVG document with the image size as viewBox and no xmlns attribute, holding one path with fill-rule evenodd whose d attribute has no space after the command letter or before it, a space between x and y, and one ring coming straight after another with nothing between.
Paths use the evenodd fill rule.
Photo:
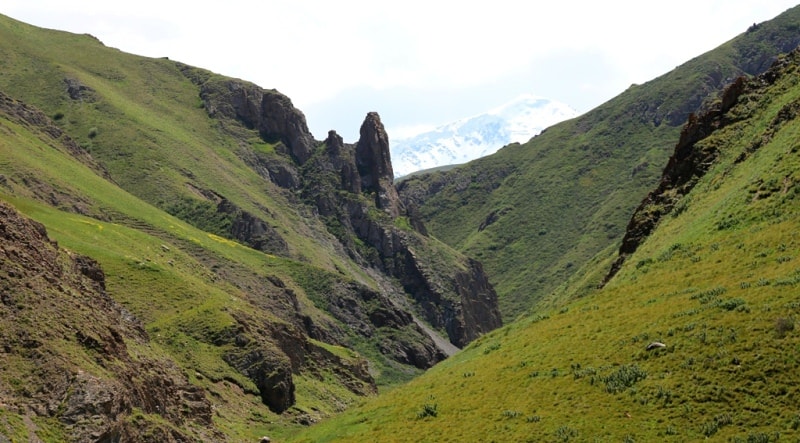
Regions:
<instances>
[{"instance_id":1,"label":"jagged rock ridge from upper-left cliffs through the spires to valley floor","mask_svg":"<svg viewBox=\"0 0 800 443\"><path fill-rule=\"evenodd\" d=\"M425 263L427 253L423 252L432 242L420 240L424 225L413 205L408 210L400 201L394 186L389 139L377 113L367 114L354 145L344 143L335 131L325 141L317 142L302 112L279 92L179 66L199 86L211 117L232 133L237 131L232 122L238 122L257 130L265 141L275 143L278 155L253 155L245 161L276 185L301 190L304 200L326 220L351 258L398 279L400 290L416 302L422 317L435 328L445 330L452 343L464 346L501 325L497 296L479 263ZM362 200L365 197L383 215L374 213L371 205ZM395 226L398 220L406 220L411 229L399 229ZM392 297L404 297L402 294L380 295L387 296L386 306L404 311L403 303L390 301ZM401 317L405 318L405 314ZM412 317L400 323L416 329L415 334L425 343L427 357L416 354L411 360L423 362L417 366L430 367L446 354L416 327ZM355 320L352 312L337 318ZM380 322L373 324L380 327ZM403 354L417 348L409 345L403 345L405 351L395 357L408 360Z\"/></svg>"}]
</instances>

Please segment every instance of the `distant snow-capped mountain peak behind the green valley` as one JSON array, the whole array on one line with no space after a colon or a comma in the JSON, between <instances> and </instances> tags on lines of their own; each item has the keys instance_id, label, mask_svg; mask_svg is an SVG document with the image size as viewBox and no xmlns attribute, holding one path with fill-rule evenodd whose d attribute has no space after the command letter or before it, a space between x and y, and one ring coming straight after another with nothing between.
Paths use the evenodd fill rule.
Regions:
<instances>
[{"instance_id":1,"label":"distant snow-capped mountain peak behind the green valley","mask_svg":"<svg viewBox=\"0 0 800 443\"><path fill-rule=\"evenodd\" d=\"M523 95L484 114L463 118L411 138L392 140L392 169L401 177L421 169L466 163L524 143L577 111L546 98Z\"/></svg>"}]
</instances>

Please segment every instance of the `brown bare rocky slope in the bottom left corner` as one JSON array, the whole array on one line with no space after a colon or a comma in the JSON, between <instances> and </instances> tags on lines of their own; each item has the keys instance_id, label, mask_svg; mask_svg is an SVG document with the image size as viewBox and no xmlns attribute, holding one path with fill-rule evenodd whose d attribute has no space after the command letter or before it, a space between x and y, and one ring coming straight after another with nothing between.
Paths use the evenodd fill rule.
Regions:
<instances>
[{"instance_id":1,"label":"brown bare rocky slope in the bottom left corner","mask_svg":"<svg viewBox=\"0 0 800 443\"><path fill-rule=\"evenodd\" d=\"M224 439L204 391L173 363L131 356L128 344L145 347L149 338L105 294L94 260L59 250L44 226L0 203L0 263L0 360L9 377L0 403L8 413L54 419L70 441ZM172 428L132 425L133 408ZM189 422L194 436L177 430Z\"/></svg>"}]
</instances>

